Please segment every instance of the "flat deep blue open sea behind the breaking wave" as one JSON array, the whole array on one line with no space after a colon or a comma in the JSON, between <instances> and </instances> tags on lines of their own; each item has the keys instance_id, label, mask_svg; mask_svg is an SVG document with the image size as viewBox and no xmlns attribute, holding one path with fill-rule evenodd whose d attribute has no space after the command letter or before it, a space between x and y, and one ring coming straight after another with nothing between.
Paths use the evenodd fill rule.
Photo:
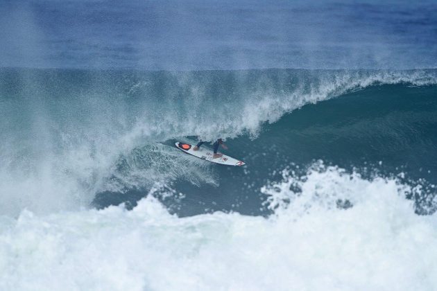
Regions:
<instances>
[{"instance_id":1,"label":"flat deep blue open sea behind the breaking wave","mask_svg":"<svg viewBox=\"0 0 437 291\"><path fill-rule=\"evenodd\" d=\"M425 1L0 1L1 67L415 69Z\"/></svg>"}]
</instances>

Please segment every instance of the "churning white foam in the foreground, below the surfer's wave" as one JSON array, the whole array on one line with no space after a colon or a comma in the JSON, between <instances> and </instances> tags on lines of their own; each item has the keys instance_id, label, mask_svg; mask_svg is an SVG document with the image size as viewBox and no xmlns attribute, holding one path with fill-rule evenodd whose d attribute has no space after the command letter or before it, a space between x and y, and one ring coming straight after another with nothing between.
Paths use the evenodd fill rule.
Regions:
<instances>
[{"instance_id":1,"label":"churning white foam in the foreground, below the surfer's wave","mask_svg":"<svg viewBox=\"0 0 437 291\"><path fill-rule=\"evenodd\" d=\"M404 199L418 189L328 167L262 191L268 218L178 218L153 195L133 211L3 217L0 290L435 289L436 215Z\"/></svg>"}]
</instances>

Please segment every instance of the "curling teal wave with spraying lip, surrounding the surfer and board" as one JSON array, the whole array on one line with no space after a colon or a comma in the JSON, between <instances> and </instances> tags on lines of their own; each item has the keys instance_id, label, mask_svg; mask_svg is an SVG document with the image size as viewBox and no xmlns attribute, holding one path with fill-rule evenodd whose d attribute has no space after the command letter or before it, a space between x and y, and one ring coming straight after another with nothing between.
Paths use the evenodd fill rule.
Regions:
<instances>
[{"instance_id":1,"label":"curling teal wave with spraying lip, surrounding the surfer and board","mask_svg":"<svg viewBox=\"0 0 437 291\"><path fill-rule=\"evenodd\" d=\"M284 169L305 173L321 160L368 178L402 173L431 191L414 198L416 211L434 212L422 201L434 197L437 182L435 70L3 69L1 76L2 173L13 173L3 181L48 179L26 188L47 201L19 191L3 211L44 212L59 199L133 206L158 183L186 195L166 198L179 215L266 215L259 189ZM174 147L218 137L248 166L208 164Z\"/></svg>"}]
</instances>

